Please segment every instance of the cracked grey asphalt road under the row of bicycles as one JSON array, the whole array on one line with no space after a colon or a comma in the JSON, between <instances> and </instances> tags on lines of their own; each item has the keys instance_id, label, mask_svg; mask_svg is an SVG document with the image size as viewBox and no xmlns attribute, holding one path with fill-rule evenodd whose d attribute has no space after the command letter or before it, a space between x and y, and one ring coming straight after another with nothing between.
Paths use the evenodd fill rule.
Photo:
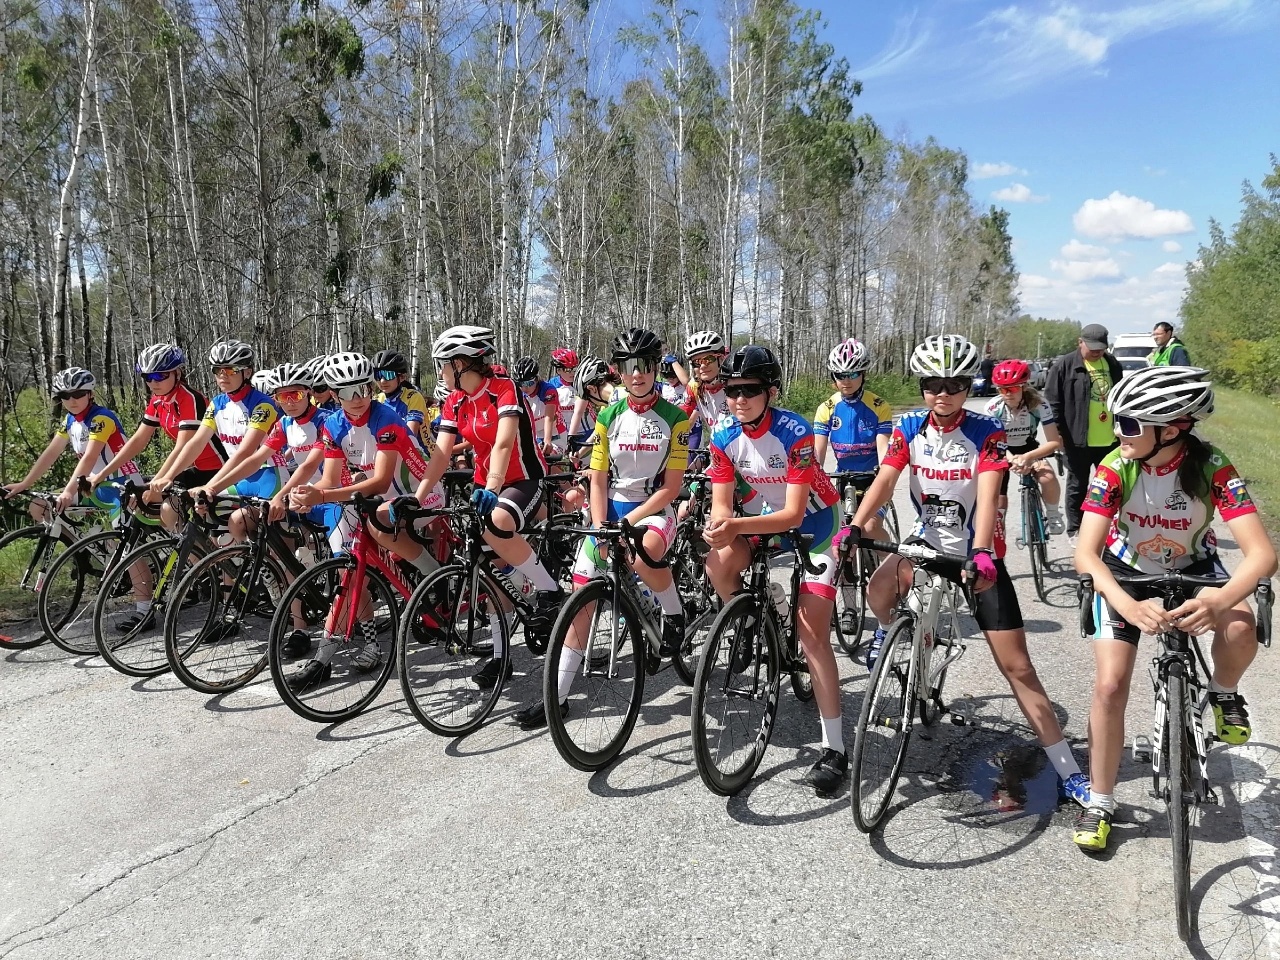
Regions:
<instances>
[{"instance_id":1,"label":"cracked grey asphalt road under the row of bicycles","mask_svg":"<svg viewBox=\"0 0 1280 960\"><path fill-rule=\"evenodd\" d=\"M1042 604L1024 554L1009 566L1083 763L1092 662L1074 580L1064 567ZM841 669L851 744L865 671ZM1194 847L1188 950L1144 771L1126 758L1111 852L1082 855L980 637L948 680L974 722L918 728L870 837L847 790L819 800L800 782L819 731L790 692L756 781L724 800L698 778L690 691L669 669L623 758L586 776L511 721L540 684L522 648L508 700L457 741L421 728L396 681L320 727L265 677L209 699L50 646L12 653L0 957L1280 957L1277 677L1262 653L1244 684L1253 741L1212 751L1222 803ZM1149 700L1139 676L1132 730L1149 730ZM992 800L997 763L1024 771L1023 809Z\"/></svg>"}]
</instances>

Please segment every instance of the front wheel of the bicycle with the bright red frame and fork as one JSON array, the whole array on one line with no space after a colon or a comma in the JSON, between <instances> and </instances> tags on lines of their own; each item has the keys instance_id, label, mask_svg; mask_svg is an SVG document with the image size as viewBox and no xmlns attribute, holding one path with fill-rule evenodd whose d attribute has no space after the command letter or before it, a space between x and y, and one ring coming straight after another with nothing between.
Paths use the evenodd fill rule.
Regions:
<instances>
[{"instance_id":1,"label":"front wheel of the bicycle with the bright red frame and fork","mask_svg":"<svg viewBox=\"0 0 1280 960\"><path fill-rule=\"evenodd\" d=\"M396 668L396 591L371 566L362 580L361 588L353 557L317 563L289 585L271 621L271 680L289 709L308 721L358 716ZM311 659L301 666L285 649L296 611L311 635Z\"/></svg>"}]
</instances>

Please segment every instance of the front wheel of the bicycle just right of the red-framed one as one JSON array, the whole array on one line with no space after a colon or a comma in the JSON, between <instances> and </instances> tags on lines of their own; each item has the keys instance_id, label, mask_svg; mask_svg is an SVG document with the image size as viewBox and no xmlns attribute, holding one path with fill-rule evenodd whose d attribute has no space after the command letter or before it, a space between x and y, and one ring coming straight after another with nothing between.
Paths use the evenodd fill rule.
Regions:
<instances>
[{"instance_id":1,"label":"front wheel of the bicycle just right of the red-framed one","mask_svg":"<svg viewBox=\"0 0 1280 960\"><path fill-rule=\"evenodd\" d=\"M397 636L401 690L417 722L436 736L479 730L502 698L515 631L497 604L500 596L484 570L451 563L422 580L404 605ZM476 666L499 648L498 680L481 689L472 681Z\"/></svg>"}]
</instances>

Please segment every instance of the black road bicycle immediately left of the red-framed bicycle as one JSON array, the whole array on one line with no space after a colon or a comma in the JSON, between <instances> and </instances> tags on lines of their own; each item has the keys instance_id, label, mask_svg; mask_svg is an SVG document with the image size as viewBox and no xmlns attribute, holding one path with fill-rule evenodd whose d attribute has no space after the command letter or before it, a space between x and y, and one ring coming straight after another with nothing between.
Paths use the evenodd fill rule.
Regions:
<instances>
[{"instance_id":1,"label":"black road bicycle immediately left of the red-framed bicycle","mask_svg":"<svg viewBox=\"0 0 1280 960\"><path fill-rule=\"evenodd\" d=\"M169 668L202 694L238 690L266 668L271 621L285 588L330 556L321 524L296 513L268 521L270 500L259 497L215 499L244 511L253 532L192 563L164 621Z\"/></svg>"}]
</instances>

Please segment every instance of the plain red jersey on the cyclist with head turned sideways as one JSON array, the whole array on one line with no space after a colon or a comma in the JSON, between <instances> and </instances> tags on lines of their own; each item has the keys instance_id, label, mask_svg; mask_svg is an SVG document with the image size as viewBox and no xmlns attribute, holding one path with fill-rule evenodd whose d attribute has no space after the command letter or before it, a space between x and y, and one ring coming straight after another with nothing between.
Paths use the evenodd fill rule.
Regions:
<instances>
[{"instance_id":1,"label":"plain red jersey on the cyclist with head turned sideways","mask_svg":"<svg viewBox=\"0 0 1280 960\"><path fill-rule=\"evenodd\" d=\"M517 424L516 448L511 452L502 485L541 480L547 475L547 461L534 439L529 407L509 378L489 376L475 393L451 393L440 410L440 433L461 435L475 447L476 483L484 486L489 483L489 456L498 439L498 421L503 417L517 417Z\"/></svg>"}]
</instances>

